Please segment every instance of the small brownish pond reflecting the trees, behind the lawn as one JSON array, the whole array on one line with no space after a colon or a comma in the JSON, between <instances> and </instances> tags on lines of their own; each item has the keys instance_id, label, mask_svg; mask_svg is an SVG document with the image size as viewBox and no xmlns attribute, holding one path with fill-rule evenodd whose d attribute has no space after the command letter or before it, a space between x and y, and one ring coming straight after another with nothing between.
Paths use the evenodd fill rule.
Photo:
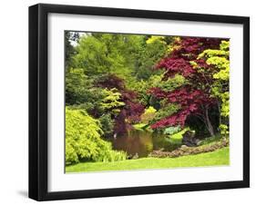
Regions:
<instances>
[{"instance_id":1,"label":"small brownish pond reflecting the trees, behind the lawn","mask_svg":"<svg viewBox=\"0 0 256 205\"><path fill-rule=\"evenodd\" d=\"M137 156L138 158L147 157L153 150L173 151L180 146L165 134L138 130L130 131L116 139L111 138L110 142L114 150L126 151L129 157Z\"/></svg>"}]
</instances>

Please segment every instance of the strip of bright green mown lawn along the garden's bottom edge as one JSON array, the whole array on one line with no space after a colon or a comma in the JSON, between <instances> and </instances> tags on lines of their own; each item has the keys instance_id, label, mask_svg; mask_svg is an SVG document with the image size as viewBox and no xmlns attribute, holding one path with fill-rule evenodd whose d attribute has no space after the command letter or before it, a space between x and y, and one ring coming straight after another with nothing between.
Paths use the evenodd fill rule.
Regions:
<instances>
[{"instance_id":1,"label":"strip of bright green mown lawn along the garden's bottom edge","mask_svg":"<svg viewBox=\"0 0 256 205\"><path fill-rule=\"evenodd\" d=\"M139 169L229 165L229 163L230 150L228 147L225 147L217 151L183 156L179 158L141 158L138 160L114 162L83 162L76 165L67 166L66 171L128 171Z\"/></svg>"}]
</instances>

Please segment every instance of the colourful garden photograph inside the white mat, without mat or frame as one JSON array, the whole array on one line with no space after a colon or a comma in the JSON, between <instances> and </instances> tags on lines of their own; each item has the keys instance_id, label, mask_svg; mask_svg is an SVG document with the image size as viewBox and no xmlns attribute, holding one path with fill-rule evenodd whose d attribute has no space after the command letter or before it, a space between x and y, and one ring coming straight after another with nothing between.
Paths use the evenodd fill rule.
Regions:
<instances>
[{"instance_id":1,"label":"colourful garden photograph inside the white mat, without mat or frame","mask_svg":"<svg viewBox=\"0 0 256 205\"><path fill-rule=\"evenodd\" d=\"M67 173L230 164L228 38L64 35Z\"/></svg>"}]
</instances>

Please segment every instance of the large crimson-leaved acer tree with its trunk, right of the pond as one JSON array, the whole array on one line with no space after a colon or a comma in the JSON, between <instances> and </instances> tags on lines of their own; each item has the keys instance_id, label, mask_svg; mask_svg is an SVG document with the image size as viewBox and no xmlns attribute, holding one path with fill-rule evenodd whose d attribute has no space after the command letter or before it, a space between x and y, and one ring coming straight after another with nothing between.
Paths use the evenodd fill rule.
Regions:
<instances>
[{"instance_id":1,"label":"large crimson-leaved acer tree with its trunk, right of the pond","mask_svg":"<svg viewBox=\"0 0 256 205\"><path fill-rule=\"evenodd\" d=\"M220 50L221 39L180 37L173 44L169 56L163 58L156 69L164 69L162 82L168 82L181 75L185 83L174 90L162 89L160 86L151 88L148 92L159 100L179 105L175 112L158 122L151 124L152 129L186 125L189 116L200 119L205 124L210 135L214 135L216 128L212 124L210 110L218 107L220 98L212 94L216 85L216 69L213 63L200 55L205 50ZM220 113L219 113L220 114Z\"/></svg>"}]
</instances>

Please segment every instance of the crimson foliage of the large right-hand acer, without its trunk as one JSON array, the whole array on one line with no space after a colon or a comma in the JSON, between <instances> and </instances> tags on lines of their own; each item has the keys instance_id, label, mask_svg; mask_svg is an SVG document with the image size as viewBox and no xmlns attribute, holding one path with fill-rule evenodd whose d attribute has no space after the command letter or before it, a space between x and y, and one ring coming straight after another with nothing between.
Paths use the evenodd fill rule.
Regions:
<instances>
[{"instance_id":1,"label":"crimson foliage of the large right-hand acer, without its trunk","mask_svg":"<svg viewBox=\"0 0 256 205\"><path fill-rule=\"evenodd\" d=\"M213 81L211 67L204 60L198 60L197 57L205 49L219 49L220 41L221 39L217 38L182 37L175 43L172 53L157 64L156 69L166 70L163 81L179 73L189 83L173 92L162 91L159 87L151 88L148 91L158 99L166 99L168 102L177 103L180 106L179 112L155 122L151 128L184 126L190 114L201 114L204 112L204 108L216 103L216 99L210 95L210 83ZM208 73L198 72L189 61L195 61L200 67L207 69Z\"/></svg>"}]
</instances>

